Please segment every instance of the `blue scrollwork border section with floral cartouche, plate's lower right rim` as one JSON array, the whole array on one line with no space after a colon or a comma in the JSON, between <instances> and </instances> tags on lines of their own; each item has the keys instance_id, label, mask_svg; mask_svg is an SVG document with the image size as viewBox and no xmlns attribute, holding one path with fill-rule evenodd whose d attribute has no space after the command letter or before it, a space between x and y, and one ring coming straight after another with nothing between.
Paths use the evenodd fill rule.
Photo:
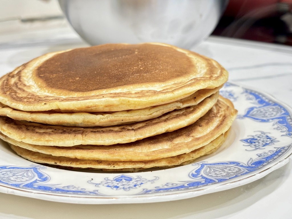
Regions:
<instances>
[{"instance_id":1,"label":"blue scrollwork border section with floral cartouche, plate's lower right rim","mask_svg":"<svg viewBox=\"0 0 292 219\"><path fill-rule=\"evenodd\" d=\"M155 187L155 189L145 189L140 194L185 190L214 183L222 183L260 170L267 164L279 159L279 157L290 150L291 147L292 144L278 148L277 150L270 150L269 152L258 154L258 158L254 160L250 159L247 164L237 161L224 161L220 163L207 163L206 161L197 162L192 164L197 168L189 173L189 177L192 180L181 181L180 183L166 183L163 186Z\"/></svg>"}]
</instances>

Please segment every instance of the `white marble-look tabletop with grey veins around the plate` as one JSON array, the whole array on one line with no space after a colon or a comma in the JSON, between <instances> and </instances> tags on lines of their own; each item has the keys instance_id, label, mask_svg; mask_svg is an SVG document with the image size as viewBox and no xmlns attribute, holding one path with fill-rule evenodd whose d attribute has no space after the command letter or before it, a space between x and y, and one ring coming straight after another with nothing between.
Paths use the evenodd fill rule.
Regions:
<instances>
[{"instance_id":1,"label":"white marble-look tabletop with grey veins around the plate","mask_svg":"<svg viewBox=\"0 0 292 219\"><path fill-rule=\"evenodd\" d=\"M50 51L87 46L67 25L0 35L0 75ZM292 106L292 47L210 37L192 49L220 62L230 81ZM149 204L66 204L0 193L0 218L292 218L292 162L247 185Z\"/></svg>"}]
</instances>

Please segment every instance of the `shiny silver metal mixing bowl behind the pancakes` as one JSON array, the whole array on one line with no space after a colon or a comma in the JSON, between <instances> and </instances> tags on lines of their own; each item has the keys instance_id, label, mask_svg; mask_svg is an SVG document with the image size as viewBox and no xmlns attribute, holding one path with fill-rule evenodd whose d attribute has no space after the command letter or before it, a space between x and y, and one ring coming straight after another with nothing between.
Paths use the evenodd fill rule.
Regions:
<instances>
[{"instance_id":1,"label":"shiny silver metal mixing bowl behind the pancakes","mask_svg":"<svg viewBox=\"0 0 292 219\"><path fill-rule=\"evenodd\" d=\"M208 37L228 0L59 0L89 44L162 42L191 48Z\"/></svg>"}]
</instances>

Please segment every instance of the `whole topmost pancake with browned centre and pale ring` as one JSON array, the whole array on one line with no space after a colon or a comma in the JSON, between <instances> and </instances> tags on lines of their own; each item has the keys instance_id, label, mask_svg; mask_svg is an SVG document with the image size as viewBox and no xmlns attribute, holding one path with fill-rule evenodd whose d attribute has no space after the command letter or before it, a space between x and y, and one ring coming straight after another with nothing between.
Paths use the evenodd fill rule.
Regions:
<instances>
[{"instance_id":1,"label":"whole topmost pancake with browned centre and pale ring","mask_svg":"<svg viewBox=\"0 0 292 219\"><path fill-rule=\"evenodd\" d=\"M115 112L170 103L223 85L215 60L159 43L105 44L42 55L0 79L22 111Z\"/></svg>"}]
</instances>

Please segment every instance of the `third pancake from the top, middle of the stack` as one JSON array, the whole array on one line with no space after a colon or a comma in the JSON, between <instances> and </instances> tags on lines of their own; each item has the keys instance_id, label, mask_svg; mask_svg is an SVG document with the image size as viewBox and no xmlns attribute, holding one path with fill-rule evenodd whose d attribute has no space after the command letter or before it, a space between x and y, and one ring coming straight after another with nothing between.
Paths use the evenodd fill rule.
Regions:
<instances>
[{"instance_id":1,"label":"third pancake from the top, middle of the stack","mask_svg":"<svg viewBox=\"0 0 292 219\"><path fill-rule=\"evenodd\" d=\"M0 117L0 131L17 141L36 145L69 147L128 143L188 126L206 114L217 99L218 93L215 93L195 106L173 110L155 119L110 127L52 126Z\"/></svg>"}]
</instances>

